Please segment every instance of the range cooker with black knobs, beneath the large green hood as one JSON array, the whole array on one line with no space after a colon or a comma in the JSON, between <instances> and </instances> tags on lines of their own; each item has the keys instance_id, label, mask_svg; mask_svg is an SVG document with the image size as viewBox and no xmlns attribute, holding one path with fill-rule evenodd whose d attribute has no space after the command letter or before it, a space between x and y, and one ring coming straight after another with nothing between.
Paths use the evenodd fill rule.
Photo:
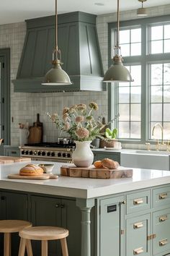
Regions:
<instances>
[{"instance_id":1,"label":"range cooker with black knobs, beneath the large green hood","mask_svg":"<svg viewBox=\"0 0 170 256\"><path fill-rule=\"evenodd\" d=\"M58 142L42 142L25 144L20 147L22 157L31 157L34 161L55 161L71 163L75 144L66 138L59 138Z\"/></svg>"}]
</instances>

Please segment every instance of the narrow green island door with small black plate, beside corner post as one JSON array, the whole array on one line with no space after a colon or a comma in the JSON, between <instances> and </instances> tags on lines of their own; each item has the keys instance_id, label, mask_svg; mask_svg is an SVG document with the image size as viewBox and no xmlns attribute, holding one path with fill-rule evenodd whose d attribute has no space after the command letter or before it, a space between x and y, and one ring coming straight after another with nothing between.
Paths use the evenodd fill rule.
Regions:
<instances>
[{"instance_id":1,"label":"narrow green island door with small black plate, beside corner post","mask_svg":"<svg viewBox=\"0 0 170 256\"><path fill-rule=\"evenodd\" d=\"M121 230L124 229L122 218L124 206L121 207L123 200L124 197L113 197L100 201L100 256L124 255L122 246L124 235L121 234Z\"/></svg>"}]
</instances>

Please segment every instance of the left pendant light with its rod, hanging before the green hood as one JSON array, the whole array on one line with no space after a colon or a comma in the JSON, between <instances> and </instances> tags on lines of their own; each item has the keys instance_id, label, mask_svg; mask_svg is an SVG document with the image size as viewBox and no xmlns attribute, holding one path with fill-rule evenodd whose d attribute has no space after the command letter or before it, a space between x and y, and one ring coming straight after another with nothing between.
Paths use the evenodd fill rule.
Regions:
<instances>
[{"instance_id":1,"label":"left pendant light with its rod, hanging before the green hood","mask_svg":"<svg viewBox=\"0 0 170 256\"><path fill-rule=\"evenodd\" d=\"M70 77L61 68L61 51L58 49L58 17L57 0L55 0L55 49L53 51L53 68L50 69L44 77L42 85L71 85Z\"/></svg>"}]
</instances>

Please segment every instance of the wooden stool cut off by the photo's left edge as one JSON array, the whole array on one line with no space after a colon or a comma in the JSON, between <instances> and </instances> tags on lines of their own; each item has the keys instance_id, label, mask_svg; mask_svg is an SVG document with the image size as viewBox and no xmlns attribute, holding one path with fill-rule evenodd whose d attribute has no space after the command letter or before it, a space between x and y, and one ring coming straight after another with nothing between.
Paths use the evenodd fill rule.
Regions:
<instances>
[{"instance_id":1,"label":"wooden stool cut off by the photo's left edge","mask_svg":"<svg viewBox=\"0 0 170 256\"><path fill-rule=\"evenodd\" d=\"M29 226L32 226L32 223L28 221L0 221L0 233L4 233L4 256L11 256L11 233L17 233ZM29 244L27 244L27 251L29 251L28 247Z\"/></svg>"}]
</instances>

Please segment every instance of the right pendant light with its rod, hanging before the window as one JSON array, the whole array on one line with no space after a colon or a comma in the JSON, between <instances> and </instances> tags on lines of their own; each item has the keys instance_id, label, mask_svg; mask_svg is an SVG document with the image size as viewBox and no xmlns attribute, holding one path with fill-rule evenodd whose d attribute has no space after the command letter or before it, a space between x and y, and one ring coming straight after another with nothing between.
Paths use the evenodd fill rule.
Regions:
<instances>
[{"instance_id":1,"label":"right pendant light with its rod, hanging before the window","mask_svg":"<svg viewBox=\"0 0 170 256\"><path fill-rule=\"evenodd\" d=\"M119 0L117 0L117 41L115 46L115 56L113 64L104 74L103 82L133 82L130 72L122 64L122 56L120 54L120 11Z\"/></svg>"}]
</instances>

